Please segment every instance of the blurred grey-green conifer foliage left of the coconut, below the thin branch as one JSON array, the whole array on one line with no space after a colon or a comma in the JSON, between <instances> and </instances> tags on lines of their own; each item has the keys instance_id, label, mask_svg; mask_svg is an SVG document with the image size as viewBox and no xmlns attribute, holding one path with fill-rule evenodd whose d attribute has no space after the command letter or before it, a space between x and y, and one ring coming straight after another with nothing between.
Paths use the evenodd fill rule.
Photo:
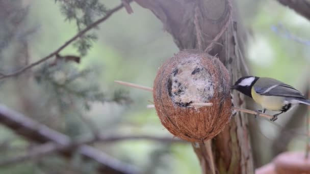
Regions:
<instances>
[{"instance_id":1,"label":"blurred grey-green conifer foliage left of the coconut, below the thin branch","mask_svg":"<svg viewBox=\"0 0 310 174\"><path fill-rule=\"evenodd\" d=\"M73 63L64 61L59 61L55 66L44 64L35 72L36 81L50 96L46 105L58 106L62 112L68 111L72 105L82 105L89 110L91 102L126 104L131 101L122 91L116 91L112 96L105 95L97 78L94 69L79 70Z\"/></svg>"}]
</instances>

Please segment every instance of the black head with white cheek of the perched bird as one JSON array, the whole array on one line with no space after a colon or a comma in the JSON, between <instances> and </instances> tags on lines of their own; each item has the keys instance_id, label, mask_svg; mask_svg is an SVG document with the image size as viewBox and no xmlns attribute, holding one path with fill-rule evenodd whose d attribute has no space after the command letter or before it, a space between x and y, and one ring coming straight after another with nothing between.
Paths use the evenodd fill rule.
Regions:
<instances>
[{"instance_id":1,"label":"black head with white cheek of the perched bird","mask_svg":"<svg viewBox=\"0 0 310 174\"><path fill-rule=\"evenodd\" d=\"M236 83L233 86L231 86L231 89L240 91L242 94L252 97L251 95L252 86L259 78L260 77L255 76L241 77L236 81Z\"/></svg>"}]
</instances>

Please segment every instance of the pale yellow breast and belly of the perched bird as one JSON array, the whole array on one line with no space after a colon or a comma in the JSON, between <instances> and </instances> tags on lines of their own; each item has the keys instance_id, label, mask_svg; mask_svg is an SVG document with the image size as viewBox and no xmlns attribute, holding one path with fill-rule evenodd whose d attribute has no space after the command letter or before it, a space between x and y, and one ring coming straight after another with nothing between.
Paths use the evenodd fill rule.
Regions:
<instances>
[{"instance_id":1,"label":"pale yellow breast and belly of the perched bird","mask_svg":"<svg viewBox=\"0 0 310 174\"><path fill-rule=\"evenodd\" d=\"M263 108L268 110L281 110L284 104L284 98L278 96L263 96L257 94L254 88L251 89L251 95L253 100L260 104Z\"/></svg>"}]
</instances>

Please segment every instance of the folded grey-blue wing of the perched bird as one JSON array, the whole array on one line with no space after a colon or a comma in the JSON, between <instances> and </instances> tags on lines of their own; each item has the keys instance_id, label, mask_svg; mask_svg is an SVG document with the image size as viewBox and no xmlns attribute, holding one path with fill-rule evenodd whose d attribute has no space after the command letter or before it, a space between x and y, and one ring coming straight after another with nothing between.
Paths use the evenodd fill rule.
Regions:
<instances>
[{"instance_id":1,"label":"folded grey-blue wing of the perched bird","mask_svg":"<svg viewBox=\"0 0 310 174\"><path fill-rule=\"evenodd\" d=\"M265 89L256 89L255 92L263 96L282 96L282 97L296 97L305 98L302 93L288 84L275 84Z\"/></svg>"}]
</instances>

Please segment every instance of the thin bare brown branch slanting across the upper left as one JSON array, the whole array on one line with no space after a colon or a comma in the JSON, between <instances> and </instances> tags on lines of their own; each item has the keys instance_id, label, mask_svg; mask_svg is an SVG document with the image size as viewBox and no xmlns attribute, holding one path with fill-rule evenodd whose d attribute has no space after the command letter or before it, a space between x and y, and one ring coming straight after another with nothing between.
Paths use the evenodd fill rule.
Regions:
<instances>
[{"instance_id":1,"label":"thin bare brown branch slanting across the upper left","mask_svg":"<svg viewBox=\"0 0 310 174\"><path fill-rule=\"evenodd\" d=\"M131 3L132 0L127 0L127 3ZM73 41L75 41L77 38L83 36L86 32L88 32L89 30L91 30L92 28L96 27L99 23L106 21L113 13L117 12L118 10L120 10L121 8L123 8L123 4L120 4L119 6L111 9L109 12L106 13L106 15L100 19L98 19L97 21L93 22L92 24L88 25L84 30L82 30L81 32L77 33L75 36L73 36L70 40L68 40L67 42L65 42L62 46L60 46L57 50L55 50L54 52L50 53L49 55L43 57L42 59L40 59L37 62L34 62L28 66L24 66L23 68L12 72L12 73L4 73L4 72L0 72L0 79L4 79L4 78L8 78L8 77L12 77L12 76L18 76L21 73L27 71L28 69L31 69L47 60L49 60L51 57L59 54L60 51L62 51L64 48L66 48L68 45L70 45Z\"/></svg>"}]
</instances>

